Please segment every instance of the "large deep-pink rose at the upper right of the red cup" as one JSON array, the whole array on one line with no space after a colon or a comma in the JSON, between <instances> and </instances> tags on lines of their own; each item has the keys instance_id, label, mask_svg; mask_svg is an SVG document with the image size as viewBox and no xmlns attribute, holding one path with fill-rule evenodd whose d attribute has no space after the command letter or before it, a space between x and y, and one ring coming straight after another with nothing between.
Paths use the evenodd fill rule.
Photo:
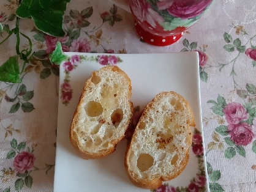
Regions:
<instances>
[{"instance_id":1,"label":"large deep-pink rose at the upper right of the red cup","mask_svg":"<svg viewBox=\"0 0 256 192\"><path fill-rule=\"evenodd\" d=\"M212 0L176 0L167 9L170 15L189 19L200 15Z\"/></svg>"}]
</instances>

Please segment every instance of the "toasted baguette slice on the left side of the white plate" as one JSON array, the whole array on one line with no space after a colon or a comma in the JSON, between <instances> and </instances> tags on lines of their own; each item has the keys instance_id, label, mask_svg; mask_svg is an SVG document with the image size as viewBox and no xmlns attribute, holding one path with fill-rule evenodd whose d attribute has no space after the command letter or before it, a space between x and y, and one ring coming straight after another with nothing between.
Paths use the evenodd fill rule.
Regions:
<instances>
[{"instance_id":1,"label":"toasted baguette slice on the left side of the white plate","mask_svg":"<svg viewBox=\"0 0 256 192\"><path fill-rule=\"evenodd\" d=\"M129 76L117 66L92 72L83 87L69 133L82 158L101 158L115 151L132 119L131 90Z\"/></svg>"}]
</instances>

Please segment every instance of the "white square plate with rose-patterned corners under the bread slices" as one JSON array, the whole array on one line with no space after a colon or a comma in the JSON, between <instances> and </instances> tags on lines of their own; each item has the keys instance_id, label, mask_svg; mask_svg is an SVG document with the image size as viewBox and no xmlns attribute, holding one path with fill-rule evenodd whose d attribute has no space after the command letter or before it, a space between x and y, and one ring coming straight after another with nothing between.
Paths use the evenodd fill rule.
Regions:
<instances>
[{"instance_id":1,"label":"white square plate with rose-patterned corners under the bread slices","mask_svg":"<svg viewBox=\"0 0 256 192\"><path fill-rule=\"evenodd\" d=\"M59 72L59 113L54 191L150 191L134 186L124 168L126 139L116 151L97 160L80 158L69 141L69 128L77 108L81 90L92 71L116 64L132 81L134 106L144 109L162 91L173 90L183 95L195 115L194 142L186 169L175 179L164 182L164 188L201 189L208 191L206 162L203 155L199 64L197 52L157 54L66 53L70 60L62 62ZM75 63L73 60L79 58ZM79 62L80 60L80 62ZM100 64L101 63L101 64ZM201 136L200 136L201 135ZM199 139L199 140L198 140Z\"/></svg>"}]
</instances>

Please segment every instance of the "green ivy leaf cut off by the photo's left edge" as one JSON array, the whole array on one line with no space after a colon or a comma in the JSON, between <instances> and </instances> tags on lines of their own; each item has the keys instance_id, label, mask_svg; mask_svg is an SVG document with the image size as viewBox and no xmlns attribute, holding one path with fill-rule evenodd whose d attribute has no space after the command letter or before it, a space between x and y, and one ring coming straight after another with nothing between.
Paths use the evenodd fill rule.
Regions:
<instances>
[{"instance_id":1,"label":"green ivy leaf cut off by the photo's left edge","mask_svg":"<svg viewBox=\"0 0 256 192\"><path fill-rule=\"evenodd\" d=\"M0 66L0 81L10 83L20 83L20 66L18 56L10 57Z\"/></svg>"}]
</instances>

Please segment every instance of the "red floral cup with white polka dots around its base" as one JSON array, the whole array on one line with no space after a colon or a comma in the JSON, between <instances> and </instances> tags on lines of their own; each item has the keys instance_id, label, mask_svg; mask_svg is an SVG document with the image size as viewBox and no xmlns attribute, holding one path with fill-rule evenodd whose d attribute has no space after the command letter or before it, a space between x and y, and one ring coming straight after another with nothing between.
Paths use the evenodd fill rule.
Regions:
<instances>
[{"instance_id":1,"label":"red floral cup with white polka dots around its base","mask_svg":"<svg viewBox=\"0 0 256 192\"><path fill-rule=\"evenodd\" d=\"M135 29L146 43L166 46L177 42L213 0L130 0Z\"/></svg>"}]
</instances>

